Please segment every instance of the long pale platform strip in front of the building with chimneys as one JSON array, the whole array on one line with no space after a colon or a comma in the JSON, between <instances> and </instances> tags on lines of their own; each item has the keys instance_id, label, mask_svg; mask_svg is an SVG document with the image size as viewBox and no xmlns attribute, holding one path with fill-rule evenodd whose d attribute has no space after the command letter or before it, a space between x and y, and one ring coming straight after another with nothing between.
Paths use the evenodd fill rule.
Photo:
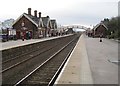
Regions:
<instances>
[{"instance_id":1,"label":"long pale platform strip in front of the building with chimneys","mask_svg":"<svg viewBox=\"0 0 120 86\"><path fill-rule=\"evenodd\" d=\"M69 35L72 35L72 34L69 34ZM65 36L69 36L69 35L48 37L48 38L41 38L41 39L30 39L30 40L24 40L24 41L22 41L20 39L20 40L16 40L16 41L0 42L0 50L10 49L10 48L19 47L19 46L25 46L28 44L52 40L52 39L65 37Z\"/></svg>"}]
</instances>

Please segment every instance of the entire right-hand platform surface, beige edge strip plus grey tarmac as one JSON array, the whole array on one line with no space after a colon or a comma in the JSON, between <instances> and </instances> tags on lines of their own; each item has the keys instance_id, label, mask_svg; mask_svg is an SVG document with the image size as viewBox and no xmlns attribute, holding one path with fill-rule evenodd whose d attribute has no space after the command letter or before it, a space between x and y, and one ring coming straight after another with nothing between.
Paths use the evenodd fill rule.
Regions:
<instances>
[{"instance_id":1,"label":"entire right-hand platform surface, beige edge strip plus grey tarmac","mask_svg":"<svg viewBox=\"0 0 120 86\"><path fill-rule=\"evenodd\" d=\"M117 61L118 42L82 35L55 84L118 84Z\"/></svg>"}]
</instances>

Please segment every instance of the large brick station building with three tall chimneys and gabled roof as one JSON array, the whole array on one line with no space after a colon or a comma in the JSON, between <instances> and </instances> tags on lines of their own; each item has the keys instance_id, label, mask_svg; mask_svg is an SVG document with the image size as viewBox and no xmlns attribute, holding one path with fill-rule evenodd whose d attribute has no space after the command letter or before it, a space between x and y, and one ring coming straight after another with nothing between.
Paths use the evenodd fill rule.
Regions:
<instances>
[{"instance_id":1,"label":"large brick station building with three tall chimneys and gabled roof","mask_svg":"<svg viewBox=\"0 0 120 86\"><path fill-rule=\"evenodd\" d=\"M13 24L13 29L16 30L17 39L21 39L24 36L25 39L40 38L51 36L51 30L57 29L57 23L51 23L50 17L41 17L41 12L34 11L34 15L31 14L31 8L28 8L28 13L23 13Z\"/></svg>"}]
</instances>

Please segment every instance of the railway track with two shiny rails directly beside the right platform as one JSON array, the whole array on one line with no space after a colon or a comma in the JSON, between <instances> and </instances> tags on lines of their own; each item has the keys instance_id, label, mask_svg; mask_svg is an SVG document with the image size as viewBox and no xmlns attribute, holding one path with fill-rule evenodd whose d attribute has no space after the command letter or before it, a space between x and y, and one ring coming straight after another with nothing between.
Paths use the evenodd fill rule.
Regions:
<instances>
[{"instance_id":1,"label":"railway track with two shiny rails directly beside the right platform","mask_svg":"<svg viewBox=\"0 0 120 86\"><path fill-rule=\"evenodd\" d=\"M38 66L35 70L17 82L14 86L31 84L52 86L62 67L67 61L71 51L73 50L77 40L78 38L75 38L70 41L68 44L54 53L49 59ZM63 55L63 52L66 53Z\"/></svg>"}]
</instances>

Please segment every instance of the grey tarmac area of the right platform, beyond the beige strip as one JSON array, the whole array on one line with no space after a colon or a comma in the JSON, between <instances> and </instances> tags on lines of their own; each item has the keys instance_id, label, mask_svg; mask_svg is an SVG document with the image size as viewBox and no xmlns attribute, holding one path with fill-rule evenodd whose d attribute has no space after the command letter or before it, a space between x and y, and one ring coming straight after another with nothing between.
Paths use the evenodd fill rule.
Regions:
<instances>
[{"instance_id":1,"label":"grey tarmac area of the right platform, beyond the beige strip","mask_svg":"<svg viewBox=\"0 0 120 86\"><path fill-rule=\"evenodd\" d=\"M118 42L84 37L94 84L118 84Z\"/></svg>"}]
</instances>

